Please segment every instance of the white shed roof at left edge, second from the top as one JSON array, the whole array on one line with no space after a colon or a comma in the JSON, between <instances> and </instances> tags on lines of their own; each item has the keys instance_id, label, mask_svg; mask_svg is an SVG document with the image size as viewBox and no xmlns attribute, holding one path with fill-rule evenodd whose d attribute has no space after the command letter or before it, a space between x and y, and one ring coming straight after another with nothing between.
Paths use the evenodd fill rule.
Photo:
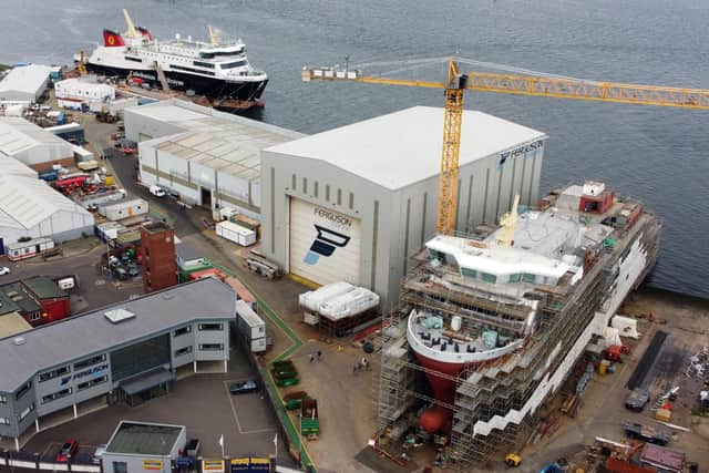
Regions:
<instances>
[{"instance_id":1,"label":"white shed roof at left edge, second from the top","mask_svg":"<svg viewBox=\"0 0 709 473\"><path fill-rule=\"evenodd\" d=\"M74 155L74 150L69 142L34 123L18 116L0 117L0 152L14 156L17 153L42 144L62 148L61 154L65 157Z\"/></svg>"}]
</instances>

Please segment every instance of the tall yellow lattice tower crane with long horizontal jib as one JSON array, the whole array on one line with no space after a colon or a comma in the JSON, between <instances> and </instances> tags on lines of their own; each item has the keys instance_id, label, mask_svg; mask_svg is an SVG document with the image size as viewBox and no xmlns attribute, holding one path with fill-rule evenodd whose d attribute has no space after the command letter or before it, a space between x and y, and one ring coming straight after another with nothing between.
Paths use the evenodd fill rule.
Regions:
<instances>
[{"instance_id":1,"label":"tall yellow lattice tower crane with long horizontal jib","mask_svg":"<svg viewBox=\"0 0 709 473\"><path fill-rule=\"evenodd\" d=\"M427 60L409 61L409 63L424 63L425 61ZM428 61L431 62L431 60ZM473 71L463 74L460 72L459 62L484 68L506 69L515 73L500 74ZM407 63L407 61L399 61L399 63ZM381 64L383 65L386 63ZM518 68L500 66L499 64L461 58L453 58L448 61L448 80L445 82L367 76L358 69L350 70L349 65L345 69L305 66L302 68L301 74L302 80L306 82L316 80L351 81L368 84L443 89L445 95L445 114L443 120L443 151L441 155L436 230L446 235L455 229L461 123L463 120L463 95L466 90L554 99L709 110L709 90L586 81L526 71Z\"/></svg>"}]
</instances>

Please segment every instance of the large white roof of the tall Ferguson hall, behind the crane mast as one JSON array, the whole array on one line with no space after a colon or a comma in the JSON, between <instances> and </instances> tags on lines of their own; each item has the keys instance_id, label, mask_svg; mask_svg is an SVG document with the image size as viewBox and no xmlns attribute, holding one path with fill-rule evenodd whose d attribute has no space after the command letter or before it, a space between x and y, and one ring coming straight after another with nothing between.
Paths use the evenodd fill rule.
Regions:
<instances>
[{"instance_id":1,"label":"large white roof of the tall Ferguson hall, behind the crane mast","mask_svg":"<svg viewBox=\"0 0 709 473\"><path fill-rule=\"evenodd\" d=\"M320 160L380 186L398 189L438 176L443 109L414 106L267 148ZM460 165L545 140L543 132L466 110Z\"/></svg>"}]
</instances>

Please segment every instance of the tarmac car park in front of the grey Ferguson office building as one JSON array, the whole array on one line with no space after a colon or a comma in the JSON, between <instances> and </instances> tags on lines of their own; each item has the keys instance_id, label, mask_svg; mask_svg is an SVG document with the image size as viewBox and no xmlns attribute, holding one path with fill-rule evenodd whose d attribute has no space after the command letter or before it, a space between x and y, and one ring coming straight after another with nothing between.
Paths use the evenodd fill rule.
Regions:
<instances>
[{"instance_id":1,"label":"tarmac car park in front of the grey Ferguson office building","mask_svg":"<svg viewBox=\"0 0 709 473\"><path fill-rule=\"evenodd\" d=\"M261 393L229 394L229 383L250 376L244 356L233 350L226 373L189 376L176 381L172 392L138 407L112 405L43 430L23 450L54 461L63 442L76 440L80 445L76 459L90 463L95 446L107 442L121 420L134 420L185 425L188 438L199 439L199 454L205 457L222 455L220 435L227 455L274 454L276 420ZM280 450L279 461L290 464L287 452Z\"/></svg>"}]
</instances>

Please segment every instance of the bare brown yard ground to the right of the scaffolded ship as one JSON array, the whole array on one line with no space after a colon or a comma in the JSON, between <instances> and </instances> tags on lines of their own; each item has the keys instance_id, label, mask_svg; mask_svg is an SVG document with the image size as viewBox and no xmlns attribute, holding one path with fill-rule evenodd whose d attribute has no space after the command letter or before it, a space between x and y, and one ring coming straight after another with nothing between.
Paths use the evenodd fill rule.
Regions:
<instances>
[{"instance_id":1,"label":"bare brown yard ground to the right of the scaffolded ship","mask_svg":"<svg viewBox=\"0 0 709 473\"><path fill-rule=\"evenodd\" d=\"M647 320L650 312L655 319L651 322ZM699 471L707 467L709 419L691 415L691 409L698 404L701 380L686 377L685 370L689 366L689 358L705 345L709 345L709 301L644 289L630 296L621 308L621 313L644 317L638 323L640 340L615 373L593 376L576 419L558 414L561 428L551 438L543 438L540 443L525 449L525 465L522 471L536 472L541 466L562 456L571 460L575 454L585 452L596 436L627 442L623 432L623 423L626 421L670 432L671 441L667 445L669 449L684 451L688 461L699 463ZM669 336L643 383L650 390L650 402L641 413L631 412L624 407L625 397L629 392L625 385L657 330L664 330ZM633 347L635 343L628 345ZM680 391L677 401L672 403L670 422L688 428L690 432L661 425L654 418L651 409L657 397L676 385L680 387Z\"/></svg>"}]
</instances>

